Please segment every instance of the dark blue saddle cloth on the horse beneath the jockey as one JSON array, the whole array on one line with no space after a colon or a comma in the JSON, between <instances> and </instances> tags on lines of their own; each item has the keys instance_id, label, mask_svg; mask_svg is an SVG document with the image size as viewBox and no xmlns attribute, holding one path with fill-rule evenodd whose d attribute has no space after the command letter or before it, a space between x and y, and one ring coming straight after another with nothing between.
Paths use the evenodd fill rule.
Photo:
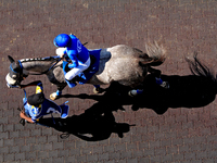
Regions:
<instances>
[{"instance_id":1,"label":"dark blue saddle cloth on the horse beneath the jockey","mask_svg":"<svg viewBox=\"0 0 217 163\"><path fill-rule=\"evenodd\" d=\"M75 87L77 84L79 83L80 85L86 84L98 71L99 71L99 64L100 64L100 52L101 49L97 49L97 50L88 50L89 54L90 54L90 66L84 71L82 73L78 74L74 79L73 83L68 82L65 79L65 82L67 83L67 85L69 86L69 88ZM68 67L68 62L63 61L63 72L64 75L71 71L71 68Z\"/></svg>"}]
</instances>

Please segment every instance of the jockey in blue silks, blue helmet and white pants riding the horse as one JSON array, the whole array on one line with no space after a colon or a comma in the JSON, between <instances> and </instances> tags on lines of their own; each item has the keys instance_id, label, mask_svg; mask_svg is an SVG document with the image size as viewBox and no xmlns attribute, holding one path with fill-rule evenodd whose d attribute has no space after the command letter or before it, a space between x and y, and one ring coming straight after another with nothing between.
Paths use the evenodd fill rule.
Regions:
<instances>
[{"instance_id":1,"label":"jockey in blue silks, blue helmet and white pants riding the horse","mask_svg":"<svg viewBox=\"0 0 217 163\"><path fill-rule=\"evenodd\" d=\"M75 76L90 66L88 49L82 46L75 35L60 34L54 38L53 43L59 47L56 49L58 55L61 58L67 55L72 61L68 64L68 67L72 70L65 74L66 80L72 82Z\"/></svg>"}]
</instances>

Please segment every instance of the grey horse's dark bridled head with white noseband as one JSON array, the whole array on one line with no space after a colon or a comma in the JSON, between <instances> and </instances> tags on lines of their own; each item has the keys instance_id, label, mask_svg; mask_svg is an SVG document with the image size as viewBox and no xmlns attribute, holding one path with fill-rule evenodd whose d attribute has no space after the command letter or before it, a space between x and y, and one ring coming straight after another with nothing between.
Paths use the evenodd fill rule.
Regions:
<instances>
[{"instance_id":1,"label":"grey horse's dark bridled head with white noseband","mask_svg":"<svg viewBox=\"0 0 217 163\"><path fill-rule=\"evenodd\" d=\"M14 61L14 59L8 55L11 64L9 68L9 74L7 75L7 83L9 88L18 87L21 82L27 77L27 73L24 73L21 61Z\"/></svg>"}]
</instances>

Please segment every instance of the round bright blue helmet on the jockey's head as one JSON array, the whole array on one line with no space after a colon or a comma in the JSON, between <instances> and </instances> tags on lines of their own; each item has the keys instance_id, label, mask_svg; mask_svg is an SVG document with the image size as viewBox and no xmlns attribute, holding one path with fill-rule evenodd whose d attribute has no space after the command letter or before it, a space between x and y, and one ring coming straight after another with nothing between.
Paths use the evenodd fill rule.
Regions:
<instances>
[{"instance_id":1,"label":"round bright blue helmet on the jockey's head","mask_svg":"<svg viewBox=\"0 0 217 163\"><path fill-rule=\"evenodd\" d=\"M67 47L71 43L71 37L67 34L60 34L53 40L56 47Z\"/></svg>"}]
</instances>

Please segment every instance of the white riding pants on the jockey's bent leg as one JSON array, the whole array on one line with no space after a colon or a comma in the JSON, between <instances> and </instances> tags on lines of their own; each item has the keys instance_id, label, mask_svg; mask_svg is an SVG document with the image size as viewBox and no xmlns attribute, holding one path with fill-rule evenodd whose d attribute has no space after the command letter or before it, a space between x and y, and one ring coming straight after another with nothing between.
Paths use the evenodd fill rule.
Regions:
<instances>
[{"instance_id":1,"label":"white riding pants on the jockey's bent leg","mask_svg":"<svg viewBox=\"0 0 217 163\"><path fill-rule=\"evenodd\" d=\"M65 79L72 80L75 76L77 76L78 74L80 74L81 72L87 70L89 66L90 66L90 58L88 59L88 61L86 63L81 63L78 61L78 66L74 67L69 72L67 72L65 74Z\"/></svg>"}]
</instances>

